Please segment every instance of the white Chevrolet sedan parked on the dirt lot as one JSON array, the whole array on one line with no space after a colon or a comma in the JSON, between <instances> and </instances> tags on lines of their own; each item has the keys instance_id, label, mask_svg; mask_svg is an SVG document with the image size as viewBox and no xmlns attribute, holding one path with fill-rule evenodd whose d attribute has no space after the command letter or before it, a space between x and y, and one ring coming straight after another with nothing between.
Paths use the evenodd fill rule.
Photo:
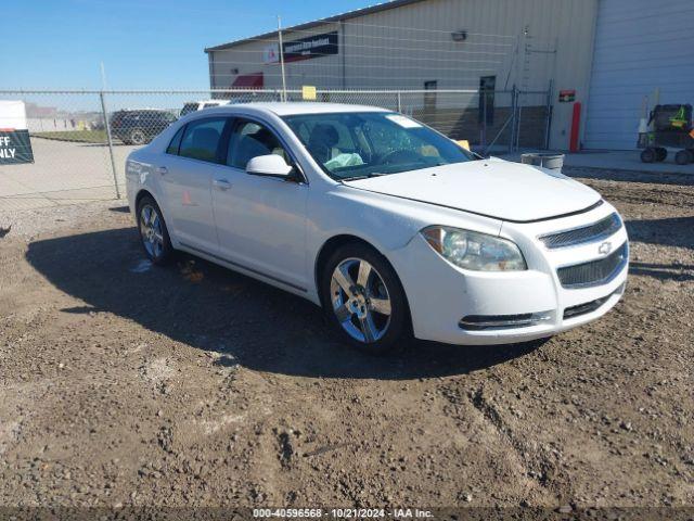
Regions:
<instances>
[{"instance_id":1,"label":"white Chevrolet sedan parked on the dirt lot","mask_svg":"<svg viewBox=\"0 0 694 521\"><path fill-rule=\"evenodd\" d=\"M599 193L383 109L209 109L126 173L153 263L182 250L304 296L372 353L547 338L625 291L627 232Z\"/></svg>"}]
</instances>

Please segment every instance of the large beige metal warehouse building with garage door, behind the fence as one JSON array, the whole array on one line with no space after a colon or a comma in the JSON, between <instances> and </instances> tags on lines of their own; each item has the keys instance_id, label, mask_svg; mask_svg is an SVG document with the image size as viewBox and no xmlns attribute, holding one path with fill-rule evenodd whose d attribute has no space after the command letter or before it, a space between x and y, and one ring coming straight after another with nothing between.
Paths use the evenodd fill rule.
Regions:
<instances>
[{"instance_id":1,"label":"large beige metal warehouse building with garage door, behind the fence","mask_svg":"<svg viewBox=\"0 0 694 521\"><path fill-rule=\"evenodd\" d=\"M579 102L583 148L629 150L647 106L694 103L692 20L692 0L395 0L283 29L286 86L426 91L413 115L449 114L451 135L465 131L454 112L481 111L483 97L447 91L496 91L484 97L496 129L516 88L525 117L551 114L537 129L550 148L569 148ZM210 87L281 88L278 39L206 49Z\"/></svg>"}]
</instances>

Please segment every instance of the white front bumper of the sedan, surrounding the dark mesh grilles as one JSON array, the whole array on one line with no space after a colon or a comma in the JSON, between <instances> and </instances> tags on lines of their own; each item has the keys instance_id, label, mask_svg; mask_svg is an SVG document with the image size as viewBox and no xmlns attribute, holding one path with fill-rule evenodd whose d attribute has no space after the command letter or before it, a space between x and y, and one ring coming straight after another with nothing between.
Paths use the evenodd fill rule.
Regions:
<instances>
[{"instance_id":1,"label":"white front bumper of the sedan, surrounding the dark mesh grilles","mask_svg":"<svg viewBox=\"0 0 694 521\"><path fill-rule=\"evenodd\" d=\"M614 212L603 204L591 212L534 224L507 224L501 237L523 251L525 271L484 272L461 269L441 258L416 236L395 255L414 335L450 344L506 344L561 333L593 321L624 294L628 263L600 285L564 288L557 269L600 259L599 249L613 250L628 242L624 226L613 236L569 247L548 250L538 239L596 221Z\"/></svg>"}]
</instances>

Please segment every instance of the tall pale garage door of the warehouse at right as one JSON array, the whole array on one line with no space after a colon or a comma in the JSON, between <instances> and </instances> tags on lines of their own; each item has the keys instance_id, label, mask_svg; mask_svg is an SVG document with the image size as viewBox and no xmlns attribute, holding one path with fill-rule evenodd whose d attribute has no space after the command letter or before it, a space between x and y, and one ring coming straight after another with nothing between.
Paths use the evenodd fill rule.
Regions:
<instances>
[{"instance_id":1,"label":"tall pale garage door of the warehouse at right","mask_svg":"<svg viewBox=\"0 0 694 521\"><path fill-rule=\"evenodd\" d=\"M599 0L583 145L635 148L641 106L694 104L694 0Z\"/></svg>"}]
</instances>

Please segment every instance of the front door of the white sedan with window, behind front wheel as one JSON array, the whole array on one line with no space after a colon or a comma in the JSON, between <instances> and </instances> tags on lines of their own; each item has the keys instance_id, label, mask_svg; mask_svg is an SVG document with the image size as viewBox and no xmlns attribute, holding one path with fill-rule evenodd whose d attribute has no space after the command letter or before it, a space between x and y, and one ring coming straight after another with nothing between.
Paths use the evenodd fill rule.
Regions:
<instances>
[{"instance_id":1,"label":"front door of the white sedan with window, behind front wheel","mask_svg":"<svg viewBox=\"0 0 694 521\"><path fill-rule=\"evenodd\" d=\"M297 290L307 288L306 201L297 180L246 174L258 155L292 158L267 126L237 118L229 140L226 175L213 179L220 256Z\"/></svg>"}]
</instances>

